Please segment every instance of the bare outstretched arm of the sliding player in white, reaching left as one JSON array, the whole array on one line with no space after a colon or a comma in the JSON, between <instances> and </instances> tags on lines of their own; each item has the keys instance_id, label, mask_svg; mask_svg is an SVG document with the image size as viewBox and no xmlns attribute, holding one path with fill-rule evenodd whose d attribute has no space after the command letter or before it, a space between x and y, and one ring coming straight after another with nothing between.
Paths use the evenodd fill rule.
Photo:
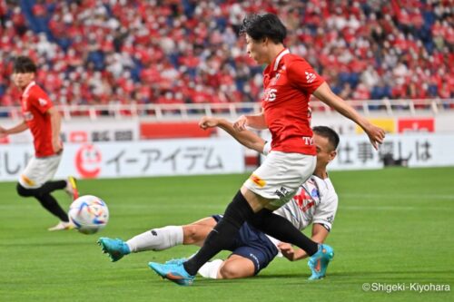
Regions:
<instances>
[{"instance_id":1,"label":"bare outstretched arm of the sliding player in white, reaching left","mask_svg":"<svg viewBox=\"0 0 454 302\"><path fill-rule=\"evenodd\" d=\"M202 129L208 129L213 127L219 127L223 131L232 135L232 137L240 142L246 148L252 149L254 151L263 152L263 147L265 145L265 141L255 134L254 132L245 130L242 132L238 132L233 128L232 122L228 122L227 120L208 117L202 117L202 120L199 122L199 126Z\"/></svg>"}]
</instances>

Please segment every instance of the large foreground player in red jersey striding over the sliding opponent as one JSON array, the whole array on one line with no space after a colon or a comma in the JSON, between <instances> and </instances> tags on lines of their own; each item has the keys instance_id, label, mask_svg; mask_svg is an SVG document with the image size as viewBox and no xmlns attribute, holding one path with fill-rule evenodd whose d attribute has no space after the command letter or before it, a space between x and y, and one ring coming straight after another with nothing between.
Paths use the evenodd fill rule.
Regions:
<instances>
[{"instance_id":1,"label":"large foreground player in red jersey striding over the sliding opponent","mask_svg":"<svg viewBox=\"0 0 454 302\"><path fill-rule=\"evenodd\" d=\"M288 220L272 213L291 200L315 169L316 147L309 109L311 94L360 125L376 149L385 136L382 129L332 93L309 63L290 53L283 44L287 30L276 15L247 16L241 33L246 38L247 53L256 63L267 64L267 67L263 72L262 112L243 115L233 125L236 131L246 127L269 129L271 152L244 182L225 210L223 219L212 229L194 257L183 264L149 263L158 275L179 285L191 285L206 261L229 248L244 221L275 239L303 249L311 256L308 262L311 279L323 278L334 255L332 248L317 244Z\"/></svg>"}]
</instances>

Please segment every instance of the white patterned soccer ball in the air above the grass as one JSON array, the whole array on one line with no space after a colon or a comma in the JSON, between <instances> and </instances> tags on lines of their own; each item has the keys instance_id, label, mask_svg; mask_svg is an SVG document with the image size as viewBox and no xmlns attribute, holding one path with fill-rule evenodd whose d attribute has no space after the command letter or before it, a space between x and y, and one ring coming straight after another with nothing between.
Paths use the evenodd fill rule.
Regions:
<instances>
[{"instance_id":1,"label":"white patterned soccer ball in the air above the grass","mask_svg":"<svg viewBox=\"0 0 454 302\"><path fill-rule=\"evenodd\" d=\"M68 217L75 229L81 233L94 234L104 229L109 221L109 209L104 200L93 195L84 195L73 201Z\"/></svg>"}]
</instances>

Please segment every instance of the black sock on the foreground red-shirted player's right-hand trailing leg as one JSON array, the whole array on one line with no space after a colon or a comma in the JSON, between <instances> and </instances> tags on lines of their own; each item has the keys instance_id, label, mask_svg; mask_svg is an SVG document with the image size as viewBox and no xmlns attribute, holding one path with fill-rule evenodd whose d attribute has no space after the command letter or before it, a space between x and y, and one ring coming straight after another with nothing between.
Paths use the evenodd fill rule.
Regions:
<instances>
[{"instance_id":1,"label":"black sock on the foreground red-shirted player's right-hand trailing leg","mask_svg":"<svg viewBox=\"0 0 454 302\"><path fill-rule=\"evenodd\" d=\"M274 214L269 209L262 209L252 219L248 220L257 229L282 242L288 242L302 248L310 256L319 248L317 242L312 241L306 235L296 229L289 220Z\"/></svg>"}]
</instances>

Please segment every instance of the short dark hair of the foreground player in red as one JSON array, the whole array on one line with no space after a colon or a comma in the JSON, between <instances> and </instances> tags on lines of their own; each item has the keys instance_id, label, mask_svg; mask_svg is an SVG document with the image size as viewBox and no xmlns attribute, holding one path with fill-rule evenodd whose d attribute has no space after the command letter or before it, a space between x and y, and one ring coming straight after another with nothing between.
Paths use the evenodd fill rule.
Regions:
<instances>
[{"instance_id":1,"label":"short dark hair of the foreground player in red","mask_svg":"<svg viewBox=\"0 0 454 302\"><path fill-rule=\"evenodd\" d=\"M242 20L240 34L248 34L253 40L259 41L265 37L271 39L275 44L283 44L287 36L287 28L274 14L253 14Z\"/></svg>"}]
</instances>

